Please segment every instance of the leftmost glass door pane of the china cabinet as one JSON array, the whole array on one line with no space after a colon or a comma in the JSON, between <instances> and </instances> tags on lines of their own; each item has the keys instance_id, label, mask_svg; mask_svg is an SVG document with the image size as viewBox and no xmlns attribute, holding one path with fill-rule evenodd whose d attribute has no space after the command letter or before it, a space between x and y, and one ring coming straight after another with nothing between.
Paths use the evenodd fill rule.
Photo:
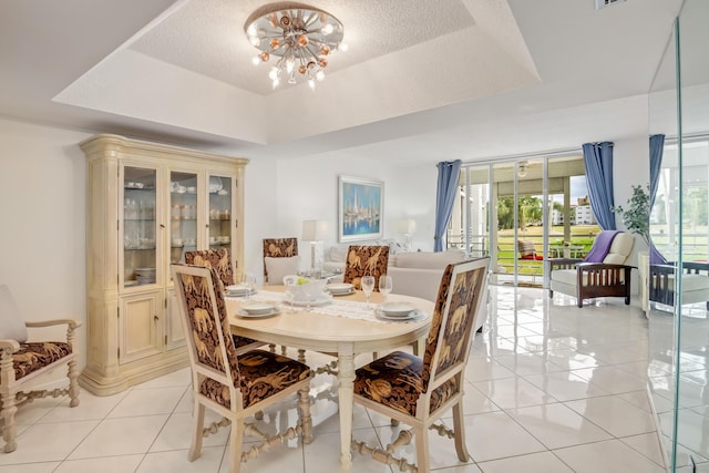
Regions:
<instances>
[{"instance_id":1,"label":"leftmost glass door pane of the china cabinet","mask_svg":"<svg viewBox=\"0 0 709 473\"><path fill-rule=\"evenodd\" d=\"M123 168L123 287L155 284L157 171Z\"/></svg>"}]
</instances>

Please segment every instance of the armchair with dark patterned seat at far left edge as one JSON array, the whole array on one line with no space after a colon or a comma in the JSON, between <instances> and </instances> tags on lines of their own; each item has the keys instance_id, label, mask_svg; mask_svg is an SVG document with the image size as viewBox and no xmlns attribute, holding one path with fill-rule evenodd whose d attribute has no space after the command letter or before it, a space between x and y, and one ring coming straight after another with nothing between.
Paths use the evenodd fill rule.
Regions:
<instances>
[{"instance_id":1,"label":"armchair with dark patterned seat at far left edge","mask_svg":"<svg viewBox=\"0 0 709 473\"><path fill-rule=\"evenodd\" d=\"M29 341L28 328L66 326L63 341ZM14 414L18 408L38 398L69 395L70 408L79 405L79 351L75 331L78 320L56 319L23 322L8 286L0 286L0 417L2 418L2 440L7 453L17 450L17 425ZM56 369L65 369L69 388L53 390L28 390Z\"/></svg>"}]
</instances>

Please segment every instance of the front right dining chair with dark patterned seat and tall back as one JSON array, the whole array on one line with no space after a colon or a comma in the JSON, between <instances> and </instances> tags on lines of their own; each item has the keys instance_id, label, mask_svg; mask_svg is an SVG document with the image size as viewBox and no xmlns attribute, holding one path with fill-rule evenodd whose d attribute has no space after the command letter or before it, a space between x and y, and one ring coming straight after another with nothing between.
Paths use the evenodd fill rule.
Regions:
<instances>
[{"instance_id":1,"label":"front right dining chair with dark patterned seat and tall back","mask_svg":"<svg viewBox=\"0 0 709 473\"><path fill-rule=\"evenodd\" d=\"M360 453L394 465L398 471L428 472L429 429L454 439L458 457L470 460L465 444L463 394L465 366L473 327L481 312L487 285L490 257L461 261L445 268L433 309L423 358L394 351L356 371L354 402L412 426L399 426L398 438L384 450L353 442ZM453 410L453 430L435 422ZM395 457L395 449L411 440L417 445L417 465ZM418 467L418 470L415 470Z\"/></svg>"}]
</instances>

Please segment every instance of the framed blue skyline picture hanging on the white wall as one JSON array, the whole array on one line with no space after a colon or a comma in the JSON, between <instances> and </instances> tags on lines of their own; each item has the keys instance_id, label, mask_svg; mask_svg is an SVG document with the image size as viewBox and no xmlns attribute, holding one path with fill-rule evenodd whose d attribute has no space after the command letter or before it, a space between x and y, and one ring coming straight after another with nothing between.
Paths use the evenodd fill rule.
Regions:
<instances>
[{"instance_id":1,"label":"framed blue skyline picture hanging on the white wall","mask_svg":"<svg viewBox=\"0 0 709 473\"><path fill-rule=\"evenodd\" d=\"M384 183L339 176L338 240L377 239L383 235Z\"/></svg>"}]
</instances>

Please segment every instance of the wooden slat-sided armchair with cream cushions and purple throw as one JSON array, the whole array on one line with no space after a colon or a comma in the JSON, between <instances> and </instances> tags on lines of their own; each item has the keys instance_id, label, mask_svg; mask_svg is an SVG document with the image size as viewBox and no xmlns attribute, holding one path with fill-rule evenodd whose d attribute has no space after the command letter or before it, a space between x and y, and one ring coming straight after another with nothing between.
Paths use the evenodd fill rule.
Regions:
<instances>
[{"instance_id":1,"label":"wooden slat-sided armchair with cream cushions and purple throw","mask_svg":"<svg viewBox=\"0 0 709 473\"><path fill-rule=\"evenodd\" d=\"M630 304L630 271L628 260L635 237L625 232L600 232L585 259L551 258L549 298L554 291L576 297L583 307L584 299L596 297L623 297Z\"/></svg>"}]
</instances>

